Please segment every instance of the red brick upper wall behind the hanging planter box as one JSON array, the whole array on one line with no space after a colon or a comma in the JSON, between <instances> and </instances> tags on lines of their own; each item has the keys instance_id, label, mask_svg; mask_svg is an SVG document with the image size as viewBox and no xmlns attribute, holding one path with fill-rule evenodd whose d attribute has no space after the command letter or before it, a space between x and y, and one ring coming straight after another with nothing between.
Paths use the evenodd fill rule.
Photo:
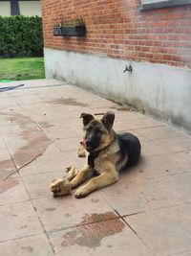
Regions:
<instances>
[{"instance_id":1,"label":"red brick upper wall behind the hanging planter box","mask_svg":"<svg viewBox=\"0 0 191 256\"><path fill-rule=\"evenodd\" d=\"M191 6L139 11L140 0L43 0L45 47L191 67ZM53 23L82 17L85 38L53 36Z\"/></svg>"}]
</instances>

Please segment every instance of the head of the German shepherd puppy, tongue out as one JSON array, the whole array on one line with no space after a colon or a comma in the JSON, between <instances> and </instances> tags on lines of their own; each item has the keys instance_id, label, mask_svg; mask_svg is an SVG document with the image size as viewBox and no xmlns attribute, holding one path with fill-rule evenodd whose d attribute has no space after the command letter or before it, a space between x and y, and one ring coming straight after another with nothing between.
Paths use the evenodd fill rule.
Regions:
<instances>
[{"instance_id":1,"label":"head of the German shepherd puppy, tongue out","mask_svg":"<svg viewBox=\"0 0 191 256\"><path fill-rule=\"evenodd\" d=\"M99 151L111 143L114 136L113 124L115 113L108 111L101 120L91 114L82 113L84 140L82 142L87 151Z\"/></svg>"}]
</instances>

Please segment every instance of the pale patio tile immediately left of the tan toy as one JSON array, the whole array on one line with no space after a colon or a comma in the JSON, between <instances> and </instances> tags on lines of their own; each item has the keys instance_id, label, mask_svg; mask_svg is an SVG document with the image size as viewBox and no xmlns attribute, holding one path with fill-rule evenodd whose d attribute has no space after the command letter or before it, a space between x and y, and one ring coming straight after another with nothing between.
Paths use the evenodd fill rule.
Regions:
<instances>
[{"instance_id":1,"label":"pale patio tile immediately left of the tan toy","mask_svg":"<svg viewBox=\"0 0 191 256\"><path fill-rule=\"evenodd\" d=\"M62 171L54 171L38 175L26 175L22 178L31 198L46 198L52 196L49 186L52 183L53 178L62 177L63 175L65 175L64 168Z\"/></svg>"}]
</instances>

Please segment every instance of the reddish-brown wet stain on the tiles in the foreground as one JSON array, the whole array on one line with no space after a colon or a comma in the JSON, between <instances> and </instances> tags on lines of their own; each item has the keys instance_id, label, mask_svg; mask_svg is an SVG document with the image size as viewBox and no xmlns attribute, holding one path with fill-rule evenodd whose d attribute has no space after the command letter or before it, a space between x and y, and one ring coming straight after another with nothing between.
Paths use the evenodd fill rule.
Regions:
<instances>
[{"instance_id":1,"label":"reddish-brown wet stain on the tiles in the foreground","mask_svg":"<svg viewBox=\"0 0 191 256\"><path fill-rule=\"evenodd\" d=\"M113 217L108 220L107 217ZM85 219L96 222L84 224ZM62 236L62 246L71 246L74 244L95 248L101 245L101 240L117 233L122 232L125 223L112 212L105 214L86 215L83 221L77 225L74 230L67 232Z\"/></svg>"}]
</instances>

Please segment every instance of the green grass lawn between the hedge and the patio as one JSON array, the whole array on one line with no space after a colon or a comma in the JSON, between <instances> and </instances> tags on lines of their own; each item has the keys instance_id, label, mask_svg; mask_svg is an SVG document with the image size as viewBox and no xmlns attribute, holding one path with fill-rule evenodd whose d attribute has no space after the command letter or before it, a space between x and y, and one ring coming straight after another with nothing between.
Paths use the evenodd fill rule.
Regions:
<instances>
[{"instance_id":1,"label":"green grass lawn between the hedge and the patio","mask_svg":"<svg viewBox=\"0 0 191 256\"><path fill-rule=\"evenodd\" d=\"M44 79L44 58L1 58L1 80Z\"/></svg>"}]
</instances>

